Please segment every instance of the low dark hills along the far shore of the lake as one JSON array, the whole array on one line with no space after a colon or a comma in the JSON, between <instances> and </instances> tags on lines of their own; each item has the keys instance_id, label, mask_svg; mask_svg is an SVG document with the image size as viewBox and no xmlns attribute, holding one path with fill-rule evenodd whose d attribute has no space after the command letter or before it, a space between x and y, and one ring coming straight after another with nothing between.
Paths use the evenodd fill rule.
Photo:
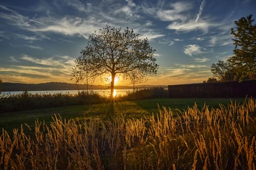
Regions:
<instances>
[{"instance_id":1,"label":"low dark hills along the far shore of the lake","mask_svg":"<svg viewBox=\"0 0 256 170\"><path fill-rule=\"evenodd\" d=\"M135 86L136 89L142 88L153 88L153 87L163 87L163 85L139 85ZM115 89L132 89L132 86L115 86ZM76 83L63 83L63 82L47 82L47 83L38 83L38 84L27 84L27 83L10 83L3 82L1 84L2 91L50 91L50 90L86 90L86 84L76 84ZM109 89L108 86L103 85L88 85L89 90L103 90Z\"/></svg>"}]
</instances>

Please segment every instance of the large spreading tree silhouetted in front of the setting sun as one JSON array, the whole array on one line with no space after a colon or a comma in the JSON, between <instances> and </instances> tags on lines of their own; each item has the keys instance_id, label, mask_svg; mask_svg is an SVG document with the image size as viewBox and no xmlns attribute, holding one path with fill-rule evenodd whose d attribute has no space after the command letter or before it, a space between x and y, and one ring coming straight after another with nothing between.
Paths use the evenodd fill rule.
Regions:
<instances>
[{"instance_id":1,"label":"large spreading tree silhouetted in front of the setting sun","mask_svg":"<svg viewBox=\"0 0 256 170\"><path fill-rule=\"evenodd\" d=\"M71 76L81 80L84 75L99 77L110 74L110 97L113 99L117 74L124 74L125 78L129 78L134 70L144 75L156 74L158 64L154 52L147 38L139 39L139 35L128 27L122 32L121 28L107 25L89 36L87 46L75 60Z\"/></svg>"}]
</instances>

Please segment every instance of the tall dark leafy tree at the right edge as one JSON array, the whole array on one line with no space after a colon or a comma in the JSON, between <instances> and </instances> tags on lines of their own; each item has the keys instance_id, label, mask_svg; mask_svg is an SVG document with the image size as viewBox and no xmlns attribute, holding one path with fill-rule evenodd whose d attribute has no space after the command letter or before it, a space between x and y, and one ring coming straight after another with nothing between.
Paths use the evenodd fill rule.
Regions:
<instances>
[{"instance_id":1,"label":"tall dark leafy tree at the right edge","mask_svg":"<svg viewBox=\"0 0 256 170\"><path fill-rule=\"evenodd\" d=\"M234 56L228 63L235 71L235 78L240 81L256 73L256 25L252 24L252 15L235 21L236 29L231 28L234 35Z\"/></svg>"}]
</instances>

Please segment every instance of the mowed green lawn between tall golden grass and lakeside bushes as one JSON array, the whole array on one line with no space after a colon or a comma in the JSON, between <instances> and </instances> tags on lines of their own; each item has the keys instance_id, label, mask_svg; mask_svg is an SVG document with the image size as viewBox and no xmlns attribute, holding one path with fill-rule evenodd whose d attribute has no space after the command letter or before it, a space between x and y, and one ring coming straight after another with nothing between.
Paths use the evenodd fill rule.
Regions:
<instances>
[{"instance_id":1,"label":"mowed green lawn between tall golden grass and lakeside bushes","mask_svg":"<svg viewBox=\"0 0 256 170\"><path fill-rule=\"evenodd\" d=\"M195 103L198 108L203 107L204 104L209 106L209 108L217 108L219 104L228 105L230 101L233 101L233 103L243 103L244 100L244 98L161 98L115 101L115 114L123 114L126 118L141 118L158 114L159 108L163 109L163 107L170 108L174 113L177 113L188 107L193 107ZM110 104L104 103L1 113L0 128L12 133L12 130L20 128L21 124L27 124L33 129L36 120L49 124L52 122L54 114L59 114L67 120L70 118L86 120L94 117L106 120L109 117L109 109Z\"/></svg>"}]
</instances>

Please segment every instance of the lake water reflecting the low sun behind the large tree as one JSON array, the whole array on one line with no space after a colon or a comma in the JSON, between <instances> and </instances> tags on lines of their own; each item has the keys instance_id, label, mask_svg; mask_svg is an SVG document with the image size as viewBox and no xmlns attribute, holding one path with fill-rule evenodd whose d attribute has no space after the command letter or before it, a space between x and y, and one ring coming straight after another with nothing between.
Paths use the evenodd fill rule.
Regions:
<instances>
[{"instance_id":1,"label":"lake water reflecting the low sun behind the large tree","mask_svg":"<svg viewBox=\"0 0 256 170\"><path fill-rule=\"evenodd\" d=\"M79 90L83 91L83 90ZM86 91L86 90L84 90ZM93 92L97 92L102 96L110 96L110 89L106 90L89 90ZM133 89L114 89L115 96L124 96L127 92L132 92ZM22 94L24 91L2 91L1 95L18 95ZM77 94L78 90L48 90L48 91L28 91L30 94Z\"/></svg>"}]
</instances>

